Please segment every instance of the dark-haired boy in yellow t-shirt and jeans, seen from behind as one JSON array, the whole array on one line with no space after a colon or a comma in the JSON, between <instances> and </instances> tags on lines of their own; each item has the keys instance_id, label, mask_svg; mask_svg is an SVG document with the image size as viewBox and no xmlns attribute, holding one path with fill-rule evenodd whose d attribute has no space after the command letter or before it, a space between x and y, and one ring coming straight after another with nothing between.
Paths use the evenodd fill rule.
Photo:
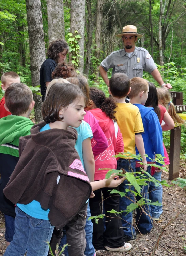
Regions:
<instances>
[{"instance_id":1,"label":"dark-haired boy in yellow t-shirt and jeans, seen from behind","mask_svg":"<svg viewBox=\"0 0 186 256\"><path fill-rule=\"evenodd\" d=\"M117 119L117 124L123 136L124 142L124 156L117 161L117 169L125 169L127 172L135 172L135 158L130 158L127 156L127 152L131 154L136 154L135 145L143 157L142 162L146 164L145 148L142 138L142 133L144 133L143 123L141 119L141 114L135 105L131 103L126 103L126 96L130 93L130 79L124 73L116 73L110 79L109 93L112 94L113 98L117 102L117 108L115 109L115 117ZM144 165L144 170L147 166ZM126 192L128 189L128 181L124 181L120 186L119 190L121 192ZM134 190L134 187L130 187ZM129 199L130 198L130 199ZM126 210L127 206L135 201L134 194L127 192L126 197L120 198L120 210ZM133 240L136 238L136 231L132 226L133 219L132 212L126 215L125 212L122 213L122 226L124 231L124 242Z\"/></svg>"}]
</instances>

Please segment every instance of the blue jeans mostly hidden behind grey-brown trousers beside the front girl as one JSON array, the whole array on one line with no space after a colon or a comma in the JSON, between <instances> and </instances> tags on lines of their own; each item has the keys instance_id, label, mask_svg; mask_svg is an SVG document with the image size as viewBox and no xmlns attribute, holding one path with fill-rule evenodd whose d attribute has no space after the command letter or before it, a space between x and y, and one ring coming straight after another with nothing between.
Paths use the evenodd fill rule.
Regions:
<instances>
[{"instance_id":1,"label":"blue jeans mostly hidden behind grey-brown trousers beside the front girl","mask_svg":"<svg viewBox=\"0 0 186 256\"><path fill-rule=\"evenodd\" d=\"M88 202L88 206L87 206L87 219L86 219L86 224L84 227L85 230L85 239L86 239L86 248L85 248L85 252L84 254L86 256L95 256L95 249L94 246L92 244L92 232L93 232L93 224L91 220L88 220L88 218L90 217L90 206L89 206L89 202ZM65 228L63 228L63 237L61 239L61 243L60 243L60 248L63 247L64 244L66 244L66 230ZM68 246L65 247L65 250L63 252L65 254L65 256L69 256L68 254Z\"/></svg>"}]
</instances>

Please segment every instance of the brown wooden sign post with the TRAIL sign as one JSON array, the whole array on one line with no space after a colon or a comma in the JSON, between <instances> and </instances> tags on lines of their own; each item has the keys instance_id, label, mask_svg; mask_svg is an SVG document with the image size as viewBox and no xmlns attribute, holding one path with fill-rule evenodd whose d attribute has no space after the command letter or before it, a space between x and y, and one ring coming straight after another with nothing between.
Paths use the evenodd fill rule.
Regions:
<instances>
[{"instance_id":1,"label":"brown wooden sign post with the TRAIL sign","mask_svg":"<svg viewBox=\"0 0 186 256\"><path fill-rule=\"evenodd\" d=\"M184 110L183 104L183 93L182 92L170 92L171 97L173 98L173 103L176 112L182 113ZM180 105L180 106L177 106ZM186 106L185 106L186 107ZM179 177L180 169L180 139L181 139L181 126L175 127L171 130L170 135L170 154L169 154L169 180L173 180Z\"/></svg>"}]
</instances>

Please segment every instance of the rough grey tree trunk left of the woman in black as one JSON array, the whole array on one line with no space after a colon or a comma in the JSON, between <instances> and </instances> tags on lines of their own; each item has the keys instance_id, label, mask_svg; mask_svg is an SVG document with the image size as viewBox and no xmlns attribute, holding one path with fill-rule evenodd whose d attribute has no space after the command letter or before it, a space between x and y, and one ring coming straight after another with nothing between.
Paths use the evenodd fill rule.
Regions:
<instances>
[{"instance_id":1,"label":"rough grey tree trunk left of the woman in black","mask_svg":"<svg viewBox=\"0 0 186 256\"><path fill-rule=\"evenodd\" d=\"M45 60L45 43L40 0L26 0L28 36L30 47L30 68L32 86L40 84L40 68ZM33 94L35 100L35 121L42 120L41 96Z\"/></svg>"}]
</instances>

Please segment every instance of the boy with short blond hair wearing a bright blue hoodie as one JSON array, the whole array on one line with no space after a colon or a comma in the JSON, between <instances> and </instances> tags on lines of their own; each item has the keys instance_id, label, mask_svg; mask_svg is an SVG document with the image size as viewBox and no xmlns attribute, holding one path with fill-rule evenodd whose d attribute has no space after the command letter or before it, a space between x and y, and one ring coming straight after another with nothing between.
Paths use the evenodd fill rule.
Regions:
<instances>
[{"instance_id":1,"label":"boy with short blond hair wearing a bright blue hoodie","mask_svg":"<svg viewBox=\"0 0 186 256\"><path fill-rule=\"evenodd\" d=\"M148 155L147 163L152 163L151 159L155 159L156 154L161 154L164 156L163 149L163 139L162 139L162 128L158 119L157 114L154 112L154 108L145 107L145 103L148 97L149 85L148 82L140 77L134 77L130 79L131 91L129 93L130 103L139 108L141 113L141 118L143 122L143 127L145 133L142 134L145 152ZM139 151L136 148L136 153ZM157 163L162 166L162 164ZM140 171L140 164L136 162L136 172ZM151 172L151 166L148 166L147 172ZM145 175L147 176L147 175ZM145 199L149 199L148 193L149 184L142 187L142 196ZM139 196L136 197L136 200L140 200ZM136 224L137 228L142 234L149 233L152 228L152 221L149 215L151 215L151 210L148 205L137 208L136 215ZM146 213L146 214L145 214Z\"/></svg>"}]
</instances>

